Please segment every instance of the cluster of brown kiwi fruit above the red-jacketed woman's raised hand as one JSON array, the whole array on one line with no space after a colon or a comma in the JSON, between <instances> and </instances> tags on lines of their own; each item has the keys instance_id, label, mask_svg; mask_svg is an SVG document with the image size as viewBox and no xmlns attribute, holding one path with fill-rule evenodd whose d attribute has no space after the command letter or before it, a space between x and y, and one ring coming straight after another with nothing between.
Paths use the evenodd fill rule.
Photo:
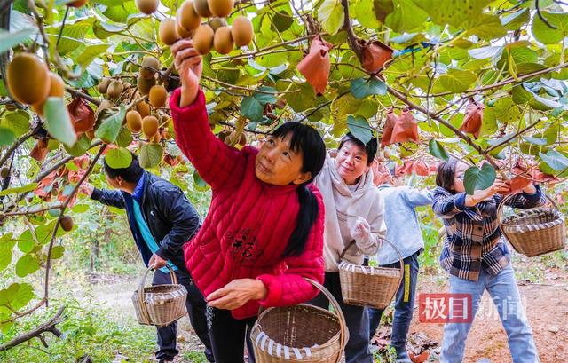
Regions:
<instances>
[{"instance_id":1,"label":"cluster of brown kiwi fruit above the red-jacketed woman's raised hand","mask_svg":"<svg viewBox=\"0 0 568 363\"><path fill-rule=\"evenodd\" d=\"M141 12L155 11L154 0L138 0ZM233 12L234 0L186 0L177 9L175 18L161 21L159 36L162 43L172 45L179 39L192 38L193 47L200 54L211 49L227 54L234 45L241 47L252 41L252 23L247 17L238 16L228 26L226 17ZM201 18L209 18L201 23Z\"/></svg>"}]
</instances>

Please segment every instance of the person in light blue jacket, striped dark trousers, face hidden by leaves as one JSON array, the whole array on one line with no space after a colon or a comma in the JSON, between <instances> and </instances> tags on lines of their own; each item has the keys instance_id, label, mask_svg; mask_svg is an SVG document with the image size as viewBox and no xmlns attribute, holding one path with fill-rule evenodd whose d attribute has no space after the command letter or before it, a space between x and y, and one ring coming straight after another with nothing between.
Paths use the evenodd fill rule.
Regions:
<instances>
[{"instance_id":1,"label":"person in light blue jacket, striped dark trousers, face hidden by leaves","mask_svg":"<svg viewBox=\"0 0 568 363\"><path fill-rule=\"evenodd\" d=\"M416 280L418 279L418 256L424 249L422 231L416 217L416 208L432 203L432 193L420 191L394 177L394 170L374 165L375 178L384 200L384 223L387 226L387 240L397 246L404 262L402 283L395 296L394 318L390 345L397 351L398 363L412 363L406 352L406 335L414 310ZM377 253L377 262L383 267L399 268L398 255L388 243L383 243ZM369 308L371 337L381 321L382 310Z\"/></svg>"}]
</instances>

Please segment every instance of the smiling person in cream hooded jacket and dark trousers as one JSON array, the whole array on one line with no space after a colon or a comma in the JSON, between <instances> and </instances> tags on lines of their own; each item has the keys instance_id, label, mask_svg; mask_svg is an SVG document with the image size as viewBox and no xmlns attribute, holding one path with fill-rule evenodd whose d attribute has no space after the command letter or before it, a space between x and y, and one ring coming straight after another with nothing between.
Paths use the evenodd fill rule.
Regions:
<instances>
[{"instance_id":1,"label":"smiling person in cream hooded jacket and dark trousers","mask_svg":"<svg viewBox=\"0 0 568 363\"><path fill-rule=\"evenodd\" d=\"M335 159L327 156L315 184L323 196L326 210L324 227L325 287L341 305L349 329L345 347L346 363L372 363L369 351L367 308L344 304L337 268L340 255L351 241L343 259L363 264L364 255L375 255L386 235L383 199L373 184L370 169L377 150L376 138L366 144L348 133L339 144ZM328 308L325 296L311 304Z\"/></svg>"}]
</instances>

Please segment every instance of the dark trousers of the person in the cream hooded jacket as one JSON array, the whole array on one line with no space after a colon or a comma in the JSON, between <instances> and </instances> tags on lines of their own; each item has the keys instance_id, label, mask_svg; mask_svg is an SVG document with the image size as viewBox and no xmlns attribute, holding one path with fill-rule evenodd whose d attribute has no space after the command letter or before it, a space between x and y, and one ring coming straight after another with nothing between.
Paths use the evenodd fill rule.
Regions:
<instances>
[{"instance_id":1,"label":"dark trousers of the person in the cream hooded jacket","mask_svg":"<svg viewBox=\"0 0 568 363\"><path fill-rule=\"evenodd\" d=\"M326 272L323 285L335 297L345 316L345 322L349 330L349 340L345 347L346 363L372 363L373 356L369 351L369 317L367 308L343 303L339 272ZM310 301L309 304L329 309L329 301L321 293Z\"/></svg>"}]
</instances>

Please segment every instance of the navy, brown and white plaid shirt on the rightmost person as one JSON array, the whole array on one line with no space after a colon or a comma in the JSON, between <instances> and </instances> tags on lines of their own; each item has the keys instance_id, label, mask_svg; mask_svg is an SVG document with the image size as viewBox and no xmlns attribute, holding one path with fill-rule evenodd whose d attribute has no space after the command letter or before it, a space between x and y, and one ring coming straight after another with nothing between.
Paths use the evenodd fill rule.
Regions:
<instances>
[{"instance_id":1,"label":"navy, brown and white plaid shirt on the rightmost person","mask_svg":"<svg viewBox=\"0 0 568 363\"><path fill-rule=\"evenodd\" d=\"M536 188L537 193L517 194L507 205L530 209L544 204L544 193L540 186ZM473 207L465 206L465 197L466 193L453 194L438 186L432 208L446 226L440 264L454 276L477 281L482 269L495 276L510 262L509 249L501 239L497 221L497 206L503 197L495 194Z\"/></svg>"}]
</instances>

